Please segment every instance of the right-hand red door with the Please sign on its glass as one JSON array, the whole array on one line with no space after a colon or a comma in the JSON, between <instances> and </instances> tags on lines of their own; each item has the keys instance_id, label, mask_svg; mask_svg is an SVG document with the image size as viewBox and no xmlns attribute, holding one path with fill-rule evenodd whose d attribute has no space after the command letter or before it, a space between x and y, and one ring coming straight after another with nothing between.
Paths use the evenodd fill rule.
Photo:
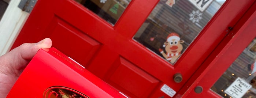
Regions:
<instances>
[{"instance_id":1,"label":"right-hand red door with the Please sign on its glass","mask_svg":"<svg viewBox=\"0 0 256 98\"><path fill-rule=\"evenodd\" d=\"M237 22L234 29L223 39L216 49L204 61L202 67L190 78L187 84L192 86L182 88L184 98L207 96L210 98L255 98L253 92L255 84L256 65L256 2L246 14ZM251 69L252 68L252 69ZM228 87L233 87L235 79L242 78L252 86L249 90L243 89L239 93L227 93ZM217 81L218 80L218 81ZM204 90L198 94L194 88L202 87ZM239 87L238 87L239 89ZM227 91L227 92L226 92ZM244 93L245 92L245 93Z\"/></svg>"}]
</instances>

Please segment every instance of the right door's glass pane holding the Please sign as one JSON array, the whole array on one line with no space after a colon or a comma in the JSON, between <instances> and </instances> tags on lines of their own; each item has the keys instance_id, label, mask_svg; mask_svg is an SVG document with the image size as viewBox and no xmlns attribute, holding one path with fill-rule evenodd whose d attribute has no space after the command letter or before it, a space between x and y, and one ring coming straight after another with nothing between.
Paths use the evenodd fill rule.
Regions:
<instances>
[{"instance_id":1,"label":"right door's glass pane holding the Please sign","mask_svg":"<svg viewBox=\"0 0 256 98\"><path fill-rule=\"evenodd\" d=\"M224 98L256 98L256 38L211 87Z\"/></svg>"}]
</instances>

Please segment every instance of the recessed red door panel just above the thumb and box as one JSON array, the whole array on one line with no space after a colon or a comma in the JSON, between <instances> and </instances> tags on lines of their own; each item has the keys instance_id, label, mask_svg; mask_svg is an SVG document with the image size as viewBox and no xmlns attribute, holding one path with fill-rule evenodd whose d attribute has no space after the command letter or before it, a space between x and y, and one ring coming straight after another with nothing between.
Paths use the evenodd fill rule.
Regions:
<instances>
[{"instance_id":1,"label":"recessed red door panel just above the thumb and box","mask_svg":"<svg viewBox=\"0 0 256 98\"><path fill-rule=\"evenodd\" d=\"M99 42L57 16L50 22L44 34L43 36L52 39L52 47L82 65L86 65L101 46Z\"/></svg>"}]
</instances>

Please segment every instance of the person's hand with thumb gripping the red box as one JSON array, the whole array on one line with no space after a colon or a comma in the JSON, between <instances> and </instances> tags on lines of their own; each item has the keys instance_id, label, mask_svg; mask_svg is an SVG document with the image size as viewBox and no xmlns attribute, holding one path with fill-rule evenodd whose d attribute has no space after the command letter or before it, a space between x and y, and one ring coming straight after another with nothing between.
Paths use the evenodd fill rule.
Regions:
<instances>
[{"instance_id":1,"label":"person's hand with thumb gripping the red box","mask_svg":"<svg viewBox=\"0 0 256 98\"><path fill-rule=\"evenodd\" d=\"M18 46L17 48L11 50L9 53L1 56L0 60L4 61L4 64L1 65L5 65L5 70L3 69L2 71L5 71L6 73L19 74L19 70L26 67L26 65L40 48L51 48L51 46L52 41L49 38L45 38L37 43L26 43Z\"/></svg>"}]
</instances>

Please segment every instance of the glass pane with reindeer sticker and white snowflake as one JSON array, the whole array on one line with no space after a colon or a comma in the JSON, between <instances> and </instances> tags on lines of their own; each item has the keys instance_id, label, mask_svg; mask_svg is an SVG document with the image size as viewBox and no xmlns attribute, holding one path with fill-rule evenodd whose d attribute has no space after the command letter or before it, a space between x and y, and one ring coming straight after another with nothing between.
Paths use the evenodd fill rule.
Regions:
<instances>
[{"instance_id":1,"label":"glass pane with reindeer sticker and white snowflake","mask_svg":"<svg viewBox=\"0 0 256 98\"><path fill-rule=\"evenodd\" d=\"M224 2L160 0L134 40L174 64Z\"/></svg>"}]
</instances>

